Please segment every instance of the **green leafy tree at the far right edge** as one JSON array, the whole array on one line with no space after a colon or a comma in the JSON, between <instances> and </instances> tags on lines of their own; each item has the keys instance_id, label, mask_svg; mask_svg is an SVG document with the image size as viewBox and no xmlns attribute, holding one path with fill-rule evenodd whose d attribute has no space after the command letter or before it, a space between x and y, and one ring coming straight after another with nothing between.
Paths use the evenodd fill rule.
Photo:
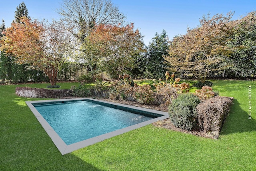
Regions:
<instances>
[{"instance_id":1,"label":"green leafy tree at the far right edge","mask_svg":"<svg viewBox=\"0 0 256 171\"><path fill-rule=\"evenodd\" d=\"M256 76L256 12L230 22L232 36L228 46L232 55L227 59L229 72L236 77Z\"/></svg>"}]
</instances>

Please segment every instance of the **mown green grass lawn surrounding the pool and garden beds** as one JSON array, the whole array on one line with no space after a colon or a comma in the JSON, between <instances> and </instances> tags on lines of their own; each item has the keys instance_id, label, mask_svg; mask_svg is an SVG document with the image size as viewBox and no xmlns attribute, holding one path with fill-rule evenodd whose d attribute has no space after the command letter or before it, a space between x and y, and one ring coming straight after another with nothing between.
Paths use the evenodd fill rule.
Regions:
<instances>
[{"instance_id":1,"label":"mown green grass lawn surrounding the pool and garden beds","mask_svg":"<svg viewBox=\"0 0 256 171\"><path fill-rule=\"evenodd\" d=\"M148 125L62 156L15 87L0 85L0 170L256 170L256 82L212 80L234 97L219 140ZM60 83L70 88L78 83ZM248 119L248 86L252 119Z\"/></svg>"}]
</instances>

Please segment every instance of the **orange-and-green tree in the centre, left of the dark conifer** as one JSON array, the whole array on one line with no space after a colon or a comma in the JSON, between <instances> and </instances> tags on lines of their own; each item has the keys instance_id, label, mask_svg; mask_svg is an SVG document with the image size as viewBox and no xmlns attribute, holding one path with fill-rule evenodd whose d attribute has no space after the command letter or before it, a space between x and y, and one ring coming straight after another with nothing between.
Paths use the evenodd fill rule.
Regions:
<instances>
[{"instance_id":1,"label":"orange-and-green tree in the centre, left of the dark conifer","mask_svg":"<svg viewBox=\"0 0 256 171\"><path fill-rule=\"evenodd\" d=\"M94 59L98 67L113 78L134 67L134 56L142 52L144 46L142 36L138 29L134 31L133 24L101 24L95 27L85 42L86 58Z\"/></svg>"}]
</instances>

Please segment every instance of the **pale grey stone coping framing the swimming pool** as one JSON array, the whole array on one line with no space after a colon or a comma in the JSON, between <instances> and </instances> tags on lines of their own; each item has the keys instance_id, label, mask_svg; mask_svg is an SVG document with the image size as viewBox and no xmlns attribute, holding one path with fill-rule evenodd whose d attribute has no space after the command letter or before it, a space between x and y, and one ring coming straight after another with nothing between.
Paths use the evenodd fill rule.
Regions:
<instances>
[{"instance_id":1,"label":"pale grey stone coping framing the swimming pool","mask_svg":"<svg viewBox=\"0 0 256 171\"><path fill-rule=\"evenodd\" d=\"M116 105L116 106L120 106L120 107L124 107L124 108L130 108L132 110L139 110L139 111L145 111L148 113L156 113L158 115L162 115L160 117L154 118L154 119L150 119L148 121L142 122L142 123L138 123L136 125L132 125L129 127L125 127L122 129L118 129L116 131L112 131L109 133L105 133L96 137L92 137L90 139L86 139L77 143L73 143L70 145L66 145L66 143L60 138L60 136L54 131L54 129L52 129L52 127L49 125L49 123L44 119L44 117L42 117L42 115L36 110L36 108L34 107L33 104L36 103L52 103L52 102L58 102L58 101L79 101L79 100L92 100L92 101L96 101L96 102L100 102L100 103L106 103L106 104L110 104L110 105ZM104 100L98 100L98 99L92 99L92 98L74 98L74 99L55 99L55 100L37 100L37 101L26 101L26 104L28 105L28 107L31 109L31 111L34 113L36 119L41 123L42 127L44 128L44 130L46 131L46 133L48 133L48 135L50 136L50 138L52 139L53 143L56 145L56 147L58 148L58 150L60 151L60 153L62 155L67 154L67 153L71 153L72 151L75 151L77 149L83 148L83 147L87 147L89 145L98 143L100 141L103 141L105 139L109 139L111 137L114 137L116 135L121 135L123 133L126 133L128 131L140 128L140 127L144 127L146 125L149 125L153 122L159 121L159 120L163 120L163 119L167 119L169 117L167 112L163 112L163 111L156 111L156 110L152 110L152 109L146 109L146 108L142 108L142 107L136 107L136 106L131 106L131 105L124 105L124 104L120 104L120 103L113 103L113 102L109 102L109 101L104 101Z\"/></svg>"}]
</instances>

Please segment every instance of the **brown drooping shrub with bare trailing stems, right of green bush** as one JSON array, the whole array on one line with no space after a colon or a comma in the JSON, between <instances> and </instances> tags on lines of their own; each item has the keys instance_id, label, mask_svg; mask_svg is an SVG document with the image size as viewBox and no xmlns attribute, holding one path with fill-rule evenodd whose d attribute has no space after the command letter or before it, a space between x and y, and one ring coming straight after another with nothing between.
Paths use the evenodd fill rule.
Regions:
<instances>
[{"instance_id":1,"label":"brown drooping shrub with bare trailing stems, right of green bush","mask_svg":"<svg viewBox=\"0 0 256 171\"><path fill-rule=\"evenodd\" d=\"M224 112L228 113L231 103L232 98L222 96L205 99L199 103L196 107L198 121L205 133L220 129L225 117Z\"/></svg>"}]
</instances>

